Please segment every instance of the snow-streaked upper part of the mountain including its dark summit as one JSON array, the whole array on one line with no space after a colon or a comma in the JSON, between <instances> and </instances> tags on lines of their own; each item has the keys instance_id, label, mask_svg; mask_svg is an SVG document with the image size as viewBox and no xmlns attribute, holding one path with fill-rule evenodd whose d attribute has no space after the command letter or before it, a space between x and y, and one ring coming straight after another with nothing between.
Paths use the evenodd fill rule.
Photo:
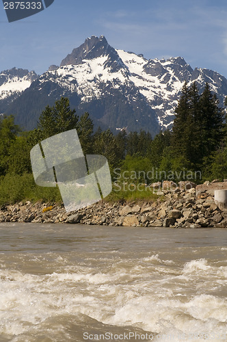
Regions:
<instances>
[{"instance_id":1,"label":"snow-streaked upper part of the mountain including its dark summit","mask_svg":"<svg viewBox=\"0 0 227 342\"><path fill-rule=\"evenodd\" d=\"M113 51L114 59L120 66L117 70L111 70L111 64L109 68L105 67L108 60L111 60ZM174 108L185 81L189 85L197 81L199 88L204 87L208 81L211 90L219 94L221 102L227 94L226 79L212 70L202 68L193 70L183 57L146 60L143 55L114 50L109 47L103 36L100 38L92 36L85 40L81 47L74 49L62 61L57 75L62 75L61 86L72 92L77 91L81 96L81 102L89 102L104 96L101 83L106 83L107 88L111 86L112 90L120 89L121 86L136 88L146 98L147 105L156 112L159 126L163 129L171 127ZM128 96L128 101L134 100L135 98Z\"/></svg>"}]
</instances>

